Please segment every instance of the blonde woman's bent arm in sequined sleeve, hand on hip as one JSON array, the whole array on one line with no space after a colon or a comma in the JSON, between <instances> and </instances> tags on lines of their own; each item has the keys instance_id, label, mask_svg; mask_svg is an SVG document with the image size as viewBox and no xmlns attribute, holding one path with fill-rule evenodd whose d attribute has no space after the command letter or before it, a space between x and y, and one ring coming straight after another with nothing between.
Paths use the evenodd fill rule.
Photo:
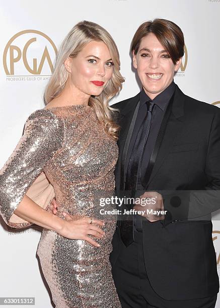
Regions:
<instances>
[{"instance_id":1,"label":"blonde woman's bent arm in sequined sleeve, hand on hip","mask_svg":"<svg viewBox=\"0 0 220 308\"><path fill-rule=\"evenodd\" d=\"M98 238L104 235L97 226L103 225L102 221L89 217L62 220L46 212L26 195L47 163L63 146L63 140L63 120L49 110L36 111L28 118L23 137L0 171L0 214L13 227L36 223L68 239L85 240L99 246L89 235ZM11 221L13 214L26 222Z\"/></svg>"}]
</instances>

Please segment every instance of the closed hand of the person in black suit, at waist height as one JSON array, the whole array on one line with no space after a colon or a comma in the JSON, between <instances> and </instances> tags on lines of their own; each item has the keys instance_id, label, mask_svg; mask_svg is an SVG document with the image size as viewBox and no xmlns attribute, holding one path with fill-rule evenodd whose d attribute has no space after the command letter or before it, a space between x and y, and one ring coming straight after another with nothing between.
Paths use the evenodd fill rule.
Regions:
<instances>
[{"instance_id":1,"label":"closed hand of the person in black suit, at waist height","mask_svg":"<svg viewBox=\"0 0 220 308\"><path fill-rule=\"evenodd\" d=\"M139 198L136 198L133 209L142 211L141 216L150 222L165 219L166 211L164 211L163 198L156 191L145 191Z\"/></svg>"}]
</instances>

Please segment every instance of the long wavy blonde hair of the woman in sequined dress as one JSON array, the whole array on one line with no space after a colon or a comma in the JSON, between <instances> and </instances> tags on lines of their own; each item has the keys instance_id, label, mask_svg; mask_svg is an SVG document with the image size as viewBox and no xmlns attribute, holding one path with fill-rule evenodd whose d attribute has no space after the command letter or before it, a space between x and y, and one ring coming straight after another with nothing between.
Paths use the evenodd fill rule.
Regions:
<instances>
[{"instance_id":1,"label":"long wavy blonde hair of the woman in sequined dress","mask_svg":"<svg viewBox=\"0 0 220 308\"><path fill-rule=\"evenodd\" d=\"M114 66L112 78L102 93L97 97L91 96L88 104L95 109L97 118L103 124L105 132L117 140L120 126L113 121L113 114L117 112L117 109L110 107L108 103L120 92L124 78L120 73L117 46L111 35L101 26L93 22L82 21L69 31L57 53L54 71L44 92L44 102L48 104L53 98L58 97L65 86L68 78L68 71L64 66L65 59L76 57L90 41L102 41L106 44Z\"/></svg>"}]
</instances>

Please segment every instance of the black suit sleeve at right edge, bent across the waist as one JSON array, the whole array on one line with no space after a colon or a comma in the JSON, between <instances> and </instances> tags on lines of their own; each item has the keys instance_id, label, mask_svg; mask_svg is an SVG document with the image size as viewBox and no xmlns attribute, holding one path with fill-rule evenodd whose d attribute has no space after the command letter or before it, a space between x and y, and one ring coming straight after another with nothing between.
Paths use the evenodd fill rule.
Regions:
<instances>
[{"instance_id":1,"label":"black suit sleeve at right edge, bent across the waist","mask_svg":"<svg viewBox=\"0 0 220 308\"><path fill-rule=\"evenodd\" d=\"M204 190L162 191L165 224L174 220L210 219L220 209L220 109L215 109L210 126L204 173L207 178Z\"/></svg>"}]
</instances>

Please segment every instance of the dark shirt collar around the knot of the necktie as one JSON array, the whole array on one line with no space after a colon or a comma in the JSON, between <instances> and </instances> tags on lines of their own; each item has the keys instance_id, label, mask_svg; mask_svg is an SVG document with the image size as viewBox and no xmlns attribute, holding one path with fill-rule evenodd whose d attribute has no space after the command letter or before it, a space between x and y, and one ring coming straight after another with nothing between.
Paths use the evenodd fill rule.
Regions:
<instances>
[{"instance_id":1,"label":"dark shirt collar around the knot of the necktie","mask_svg":"<svg viewBox=\"0 0 220 308\"><path fill-rule=\"evenodd\" d=\"M176 84L174 81L168 86L163 92L158 94L152 101L163 111L166 109L174 91L176 89ZM143 88L140 91L140 108L147 102L151 100L150 97L144 92Z\"/></svg>"}]
</instances>

